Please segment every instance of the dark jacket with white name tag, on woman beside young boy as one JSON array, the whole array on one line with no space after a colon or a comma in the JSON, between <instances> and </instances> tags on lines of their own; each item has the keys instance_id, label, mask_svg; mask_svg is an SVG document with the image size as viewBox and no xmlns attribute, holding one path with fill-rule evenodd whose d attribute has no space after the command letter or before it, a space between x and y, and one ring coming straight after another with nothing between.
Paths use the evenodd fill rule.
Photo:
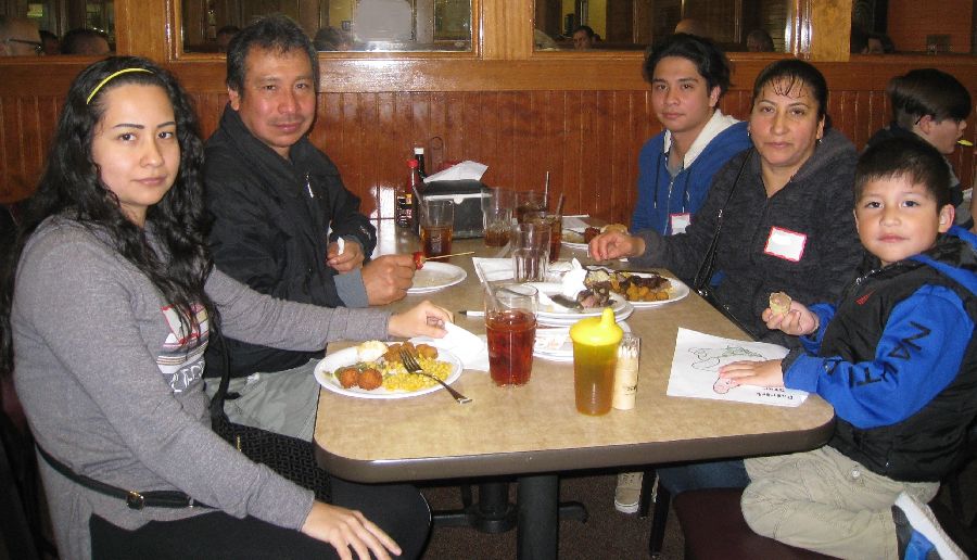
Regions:
<instances>
[{"instance_id":1,"label":"dark jacket with white name tag, on woman beside young boy","mask_svg":"<svg viewBox=\"0 0 977 560\"><path fill-rule=\"evenodd\" d=\"M796 346L796 338L770 331L760 315L772 292L786 292L799 302L835 302L857 276L864 250L852 214L855 158L854 145L829 129L790 181L767 198L760 155L756 150L743 152L715 175L706 203L685 233L664 237L654 230L638 231L645 254L630 260L635 266L668 268L691 284L725 204L712 293L754 338ZM774 227L804 237L800 259L769 254Z\"/></svg>"}]
</instances>

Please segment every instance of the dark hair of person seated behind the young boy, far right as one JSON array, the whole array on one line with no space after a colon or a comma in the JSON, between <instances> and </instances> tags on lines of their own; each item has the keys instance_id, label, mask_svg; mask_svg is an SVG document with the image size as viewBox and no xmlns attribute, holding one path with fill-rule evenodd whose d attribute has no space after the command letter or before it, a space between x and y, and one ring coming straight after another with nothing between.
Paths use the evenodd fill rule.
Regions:
<instances>
[{"instance_id":1,"label":"dark hair of person seated behind the young boy, far right","mask_svg":"<svg viewBox=\"0 0 977 560\"><path fill-rule=\"evenodd\" d=\"M936 68L896 76L889 80L886 93L892 103L892 120L908 130L927 115L938 123L970 116L970 92L952 75Z\"/></svg>"}]
</instances>

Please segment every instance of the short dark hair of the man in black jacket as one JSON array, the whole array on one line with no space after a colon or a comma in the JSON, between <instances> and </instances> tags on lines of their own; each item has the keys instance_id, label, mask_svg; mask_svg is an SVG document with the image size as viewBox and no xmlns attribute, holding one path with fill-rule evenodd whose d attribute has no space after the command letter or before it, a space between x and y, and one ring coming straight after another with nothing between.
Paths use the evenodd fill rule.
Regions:
<instances>
[{"instance_id":1,"label":"short dark hair of the man in black jacket","mask_svg":"<svg viewBox=\"0 0 977 560\"><path fill-rule=\"evenodd\" d=\"M284 54L299 49L308 56L313 68L313 82L319 89L319 58L316 49L302 27L287 15L274 14L262 17L234 34L227 46L227 87L244 97L244 59L252 47Z\"/></svg>"}]
</instances>

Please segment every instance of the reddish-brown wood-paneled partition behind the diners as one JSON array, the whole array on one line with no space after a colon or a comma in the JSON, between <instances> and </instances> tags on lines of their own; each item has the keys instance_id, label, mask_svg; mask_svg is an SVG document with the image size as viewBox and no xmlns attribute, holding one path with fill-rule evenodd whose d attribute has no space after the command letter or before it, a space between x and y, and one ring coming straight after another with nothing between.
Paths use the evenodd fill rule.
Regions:
<instances>
[{"instance_id":1,"label":"reddish-brown wood-paneled partition behind the diners","mask_svg":"<svg viewBox=\"0 0 977 560\"><path fill-rule=\"evenodd\" d=\"M957 3L973 12L970 2ZM729 54L734 87L724 112L746 118L757 73L792 55L824 72L834 126L859 148L889 122L885 88L894 75L936 66L977 94L975 56L849 55L852 0L792 4L788 23L805 31L796 34L790 53ZM406 176L411 148L430 148L439 137L444 158L487 164L488 184L540 188L548 170L551 190L567 194L567 213L630 219L638 151L661 128L642 79L643 53L535 51L534 8L533 0L472 0L471 52L320 53L313 141L337 162L365 212L393 217L393 189ZM115 0L116 50L172 68L195 99L207 136L227 99L224 56L183 52L180 11L174 0ZM930 16L963 18L973 29L973 13ZM0 59L0 202L33 191L64 92L91 60ZM972 116L972 141L975 125ZM963 184L972 184L974 149L957 150L951 161Z\"/></svg>"}]
</instances>

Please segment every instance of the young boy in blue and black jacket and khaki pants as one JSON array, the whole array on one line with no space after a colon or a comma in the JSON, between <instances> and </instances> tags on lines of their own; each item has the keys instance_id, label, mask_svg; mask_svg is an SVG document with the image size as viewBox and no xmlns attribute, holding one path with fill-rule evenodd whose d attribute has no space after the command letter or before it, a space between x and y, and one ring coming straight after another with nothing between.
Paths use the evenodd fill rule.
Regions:
<instances>
[{"instance_id":1,"label":"young boy in blue and black jacket and khaki pants","mask_svg":"<svg viewBox=\"0 0 977 560\"><path fill-rule=\"evenodd\" d=\"M977 413L977 237L953 226L948 186L922 140L866 150L854 213L872 270L837 305L763 311L804 348L722 368L738 384L817 393L837 416L820 449L745 461L757 533L842 558L966 558L924 505Z\"/></svg>"}]
</instances>

